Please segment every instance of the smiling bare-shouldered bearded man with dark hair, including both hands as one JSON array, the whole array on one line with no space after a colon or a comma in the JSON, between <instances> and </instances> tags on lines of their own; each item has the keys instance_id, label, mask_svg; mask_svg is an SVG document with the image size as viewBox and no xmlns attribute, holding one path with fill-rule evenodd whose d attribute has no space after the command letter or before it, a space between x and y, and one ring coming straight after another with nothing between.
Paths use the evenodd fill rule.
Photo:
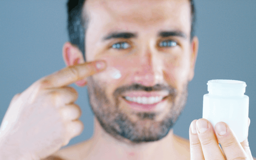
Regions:
<instances>
[{"instance_id":1,"label":"smiling bare-shouldered bearded man with dark hair, including both hands","mask_svg":"<svg viewBox=\"0 0 256 160\"><path fill-rule=\"evenodd\" d=\"M26 142L26 153L21 153L22 157L49 156L48 160L253 159L248 141L239 143L225 123L220 124L227 129L217 124L213 128L205 119L194 120L189 128L190 141L173 134L172 127L186 103L187 86L194 76L198 51L198 39L193 35L192 0L86 0L74 6L78 7L73 9L72 2L68 2L71 43L63 47L68 68L40 79L14 97L10 104L8 113L27 98L28 103L20 111L22 117L36 119L31 112L37 116L45 113L42 123L38 118L40 122L34 124L37 127L26 130L31 139L38 138ZM92 67L102 67L103 63L94 63L102 60L103 69ZM65 87L73 82L81 87L87 84L95 114L94 134L90 140L59 150L61 143L62 146L67 144L83 128L77 121L81 116L80 108L72 103L77 93ZM48 96L50 98L45 100ZM55 106L50 108L52 104ZM44 111L38 111L37 106ZM8 113L3 122L9 118L9 122L14 123ZM26 122L31 119L27 118ZM17 125L9 127L17 128L15 132L9 129L14 136L2 133L6 135L3 139L6 148L10 148L10 142L18 143L13 139L18 139L21 133L16 131L21 130L20 124L25 120L18 121ZM8 123L6 126L8 128ZM45 130L51 128L52 132L42 130L44 127ZM227 133L219 135L216 129ZM40 131L46 133L40 135ZM36 149L30 147L33 144Z\"/></svg>"}]
</instances>

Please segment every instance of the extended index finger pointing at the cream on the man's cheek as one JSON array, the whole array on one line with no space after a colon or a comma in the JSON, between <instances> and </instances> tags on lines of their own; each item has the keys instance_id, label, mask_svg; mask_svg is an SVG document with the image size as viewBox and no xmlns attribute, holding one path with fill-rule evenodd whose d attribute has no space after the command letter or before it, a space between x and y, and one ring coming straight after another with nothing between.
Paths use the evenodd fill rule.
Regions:
<instances>
[{"instance_id":1,"label":"extended index finger pointing at the cream on the man's cheek","mask_svg":"<svg viewBox=\"0 0 256 160\"><path fill-rule=\"evenodd\" d=\"M87 62L75 66L68 66L49 76L44 77L42 80L42 87L44 89L47 89L66 86L88 76L91 76L95 73L99 73L103 71L106 66L107 63L105 60Z\"/></svg>"}]
</instances>

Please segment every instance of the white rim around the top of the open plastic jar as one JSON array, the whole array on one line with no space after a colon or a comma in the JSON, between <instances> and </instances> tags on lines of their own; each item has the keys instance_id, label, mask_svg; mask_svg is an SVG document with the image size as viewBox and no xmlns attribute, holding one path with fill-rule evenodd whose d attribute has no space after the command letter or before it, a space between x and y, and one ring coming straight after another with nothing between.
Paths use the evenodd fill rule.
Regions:
<instances>
[{"instance_id":1,"label":"white rim around the top of the open plastic jar","mask_svg":"<svg viewBox=\"0 0 256 160\"><path fill-rule=\"evenodd\" d=\"M207 83L208 87L215 88L244 88L247 85L243 81L228 80L228 79L214 79Z\"/></svg>"}]
</instances>

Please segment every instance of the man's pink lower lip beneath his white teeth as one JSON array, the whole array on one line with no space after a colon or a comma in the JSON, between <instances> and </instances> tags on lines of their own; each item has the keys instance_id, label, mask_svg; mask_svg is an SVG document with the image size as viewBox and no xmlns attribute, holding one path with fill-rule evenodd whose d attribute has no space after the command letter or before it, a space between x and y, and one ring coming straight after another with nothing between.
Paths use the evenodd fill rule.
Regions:
<instances>
[{"instance_id":1,"label":"man's pink lower lip beneath his white teeth","mask_svg":"<svg viewBox=\"0 0 256 160\"><path fill-rule=\"evenodd\" d=\"M126 100L125 98L122 97L122 99L128 103L129 107L134 109L134 110L139 110L139 111L154 111L157 109L157 107L161 107L161 103L163 103L167 98L163 98L161 101L153 104L141 104L133 101Z\"/></svg>"}]
</instances>

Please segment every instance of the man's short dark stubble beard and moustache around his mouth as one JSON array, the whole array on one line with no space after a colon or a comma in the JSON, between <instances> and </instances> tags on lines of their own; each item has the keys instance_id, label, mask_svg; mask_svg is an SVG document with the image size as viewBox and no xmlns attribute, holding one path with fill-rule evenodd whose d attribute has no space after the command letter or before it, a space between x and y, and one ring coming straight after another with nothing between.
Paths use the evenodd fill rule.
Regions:
<instances>
[{"instance_id":1,"label":"man's short dark stubble beard and moustache around his mouth","mask_svg":"<svg viewBox=\"0 0 256 160\"><path fill-rule=\"evenodd\" d=\"M106 94L106 87L100 85L92 76L87 78L89 103L101 127L117 140L128 140L133 144L161 140L169 133L184 110L188 96L187 88L188 83L184 84L183 90L178 96L177 90L172 86L161 84L156 84L152 87L146 87L141 84L125 85L114 91L113 104ZM129 113L129 116L128 113L125 113L120 108L120 100L118 99L118 97L122 96L122 93L128 91L168 91L167 100L170 106L166 106L168 110L164 118L156 121L160 113L136 112L135 110ZM131 114L136 117L136 121L131 120Z\"/></svg>"}]
</instances>

